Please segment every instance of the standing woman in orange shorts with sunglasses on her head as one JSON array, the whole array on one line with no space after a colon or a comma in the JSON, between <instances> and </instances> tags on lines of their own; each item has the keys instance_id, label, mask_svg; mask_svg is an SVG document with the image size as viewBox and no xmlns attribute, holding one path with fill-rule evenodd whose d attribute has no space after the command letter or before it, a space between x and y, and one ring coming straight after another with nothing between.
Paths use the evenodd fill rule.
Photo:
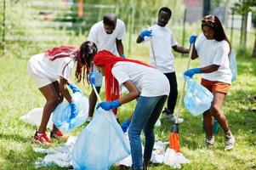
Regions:
<instances>
[{"instance_id":1,"label":"standing woman in orange shorts with sunglasses on her head","mask_svg":"<svg viewBox=\"0 0 256 170\"><path fill-rule=\"evenodd\" d=\"M193 77L196 73L203 73L201 84L213 93L211 108L203 113L206 128L206 144L214 144L213 118L219 122L225 133L225 150L234 147L235 139L223 112L222 105L231 84L230 71L230 42L225 31L214 15L207 15L202 20L202 34L197 38L191 36L190 42L195 44L191 59L200 59L201 68L185 71L185 76Z\"/></svg>"}]
</instances>

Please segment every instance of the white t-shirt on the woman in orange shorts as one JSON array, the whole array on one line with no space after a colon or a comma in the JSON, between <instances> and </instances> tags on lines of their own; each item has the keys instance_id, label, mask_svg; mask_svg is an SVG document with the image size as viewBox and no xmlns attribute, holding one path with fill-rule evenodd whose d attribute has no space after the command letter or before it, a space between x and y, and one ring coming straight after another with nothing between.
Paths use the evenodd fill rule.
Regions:
<instances>
[{"instance_id":1,"label":"white t-shirt on the woman in orange shorts","mask_svg":"<svg viewBox=\"0 0 256 170\"><path fill-rule=\"evenodd\" d=\"M209 81L226 82L231 84L230 71L230 46L225 40L218 42L216 40L208 40L203 34L196 38L196 52L200 59L201 67L208 65L219 65L218 71L205 73L203 79Z\"/></svg>"}]
</instances>

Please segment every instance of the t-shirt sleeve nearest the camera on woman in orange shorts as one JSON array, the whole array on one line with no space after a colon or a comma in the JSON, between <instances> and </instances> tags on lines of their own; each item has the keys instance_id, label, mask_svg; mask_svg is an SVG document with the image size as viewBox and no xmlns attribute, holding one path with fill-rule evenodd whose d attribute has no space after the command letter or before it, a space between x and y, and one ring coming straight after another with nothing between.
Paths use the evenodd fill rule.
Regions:
<instances>
[{"instance_id":1,"label":"t-shirt sleeve nearest the camera on woman in orange shorts","mask_svg":"<svg viewBox=\"0 0 256 170\"><path fill-rule=\"evenodd\" d=\"M229 45L227 42L223 42L217 49L216 54L213 58L213 65L223 65L225 57L229 55Z\"/></svg>"}]
</instances>

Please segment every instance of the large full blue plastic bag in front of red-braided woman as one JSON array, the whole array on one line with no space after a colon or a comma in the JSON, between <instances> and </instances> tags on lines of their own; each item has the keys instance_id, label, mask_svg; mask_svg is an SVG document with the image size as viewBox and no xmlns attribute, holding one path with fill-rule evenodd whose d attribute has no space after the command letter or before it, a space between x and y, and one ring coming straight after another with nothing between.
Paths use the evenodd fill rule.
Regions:
<instances>
[{"instance_id":1,"label":"large full blue plastic bag in front of red-braided woman","mask_svg":"<svg viewBox=\"0 0 256 170\"><path fill-rule=\"evenodd\" d=\"M77 138L72 151L75 169L106 170L130 154L128 139L116 117L101 108Z\"/></svg>"}]
</instances>

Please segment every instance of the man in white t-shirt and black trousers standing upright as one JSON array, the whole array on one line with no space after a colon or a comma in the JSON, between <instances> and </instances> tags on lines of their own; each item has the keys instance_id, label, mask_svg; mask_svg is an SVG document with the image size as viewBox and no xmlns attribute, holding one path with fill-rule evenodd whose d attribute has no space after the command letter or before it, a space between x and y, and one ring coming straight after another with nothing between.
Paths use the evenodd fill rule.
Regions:
<instances>
[{"instance_id":1,"label":"man in white t-shirt and black trousers standing upright","mask_svg":"<svg viewBox=\"0 0 256 170\"><path fill-rule=\"evenodd\" d=\"M171 88L170 94L168 95L168 106L163 111L166 115L164 115L163 118L167 118L174 122L175 118L173 114L178 96L178 89L172 48L174 51L181 54L188 54L190 50L188 48L178 46L174 37L174 32L166 27L171 16L171 9L167 7L160 8L157 24L151 26L149 30L142 31L137 38L137 43L149 40L149 37L151 38L151 48L153 48L150 50L151 65L155 66L166 77L168 77ZM155 56L152 51L154 51Z\"/></svg>"}]
</instances>

